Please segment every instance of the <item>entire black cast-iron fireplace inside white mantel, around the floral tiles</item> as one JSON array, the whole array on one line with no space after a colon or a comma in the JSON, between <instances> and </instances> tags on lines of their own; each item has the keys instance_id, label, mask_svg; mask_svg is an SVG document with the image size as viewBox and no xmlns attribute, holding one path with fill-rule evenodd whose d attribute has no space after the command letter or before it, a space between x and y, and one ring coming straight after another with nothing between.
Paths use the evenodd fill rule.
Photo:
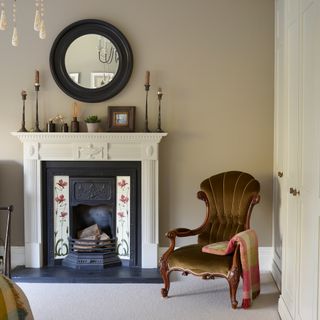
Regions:
<instances>
[{"instance_id":1,"label":"entire black cast-iron fireplace inside white mantel, around the floral tiles","mask_svg":"<svg viewBox=\"0 0 320 320\"><path fill-rule=\"evenodd\" d=\"M43 257L44 266L64 265L71 268L103 269L121 263L125 266L141 265L141 231L140 231L140 162L72 162L47 161L42 162L43 179ZM66 217L70 224L66 228L69 234L68 247L64 244L59 249L62 258L57 259L55 246L57 241L54 226L54 179L57 176L67 176L69 184L69 203ZM129 259L118 257L116 239L116 178L130 177L130 253ZM63 185L63 182L61 182ZM67 211L67 210L65 210ZM92 240L81 240L82 246L77 247L77 234L80 230L96 224L101 233L109 240L99 240L92 247ZM62 224L63 226L63 224ZM86 242L89 246L86 247ZM83 244L85 244L83 246Z\"/></svg>"}]
</instances>

